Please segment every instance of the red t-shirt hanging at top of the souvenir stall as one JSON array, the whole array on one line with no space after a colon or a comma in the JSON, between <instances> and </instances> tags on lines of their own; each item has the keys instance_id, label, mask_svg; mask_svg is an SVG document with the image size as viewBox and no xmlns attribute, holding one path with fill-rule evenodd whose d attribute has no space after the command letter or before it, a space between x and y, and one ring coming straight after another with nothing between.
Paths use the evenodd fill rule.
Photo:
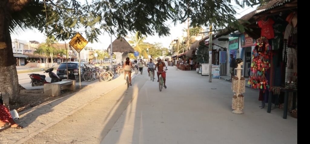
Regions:
<instances>
[{"instance_id":1,"label":"red t-shirt hanging at top of the souvenir stall","mask_svg":"<svg viewBox=\"0 0 310 144\"><path fill-rule=\"evenodd\" d=\"M260 20L258 22L258 26L259 28L262 28L261 36L264 36L267 39L273 39L274 38L274 31L272 28L273 24L274 24L274 21L270 18L268 18L267 21Z\"/></svg>"}]
</instances>

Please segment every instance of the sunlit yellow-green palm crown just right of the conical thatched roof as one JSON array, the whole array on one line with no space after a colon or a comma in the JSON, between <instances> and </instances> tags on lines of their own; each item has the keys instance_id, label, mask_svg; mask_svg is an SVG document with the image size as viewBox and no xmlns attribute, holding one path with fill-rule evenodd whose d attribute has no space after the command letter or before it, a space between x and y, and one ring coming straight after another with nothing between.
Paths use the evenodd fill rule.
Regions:
<instances>
[{"instance_id":1,"label":"sunlit yellow-green palm crown just right of the conical thatched roof","mask_svg":"<svg viewBox=\"0 0 310 144\"><path fill-rule=\"evenodd\" d=\"M148 57L148 53L145 49L151 48L151 46L143 42L145 39L145 36L141 36L139 32L136 32L135 36L132 36L131 40L128 42L135 49L135 51L139 52L141 55L143 55L143 57Z\"/></svg>"}]
</instances>

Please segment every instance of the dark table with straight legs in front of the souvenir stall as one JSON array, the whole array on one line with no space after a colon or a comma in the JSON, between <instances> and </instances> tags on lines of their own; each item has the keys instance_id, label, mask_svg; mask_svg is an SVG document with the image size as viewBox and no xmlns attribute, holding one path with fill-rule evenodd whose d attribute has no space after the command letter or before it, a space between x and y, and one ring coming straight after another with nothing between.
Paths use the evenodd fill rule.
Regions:
<instances>
[{"instance_id":1,"label":"dark table with straight legs in front of the souvenir stall","mask_svg":"<svg viewBox=\"0 0 310 144\"><path fill-rule=\"evenodd\" d=\"M280 89L281 92L284 92L284 112L283 112L283 119L286 119L287 117L287 108L288 108L288 101L289 101L289 93L293 93L293 109L296 108L296 94L297 89ZM269 92L269 98L268 98L268 109L267 112L271 112L271 105L272 105L272 98L273 98L272 91Z\"/></svg>"}]
</instances>

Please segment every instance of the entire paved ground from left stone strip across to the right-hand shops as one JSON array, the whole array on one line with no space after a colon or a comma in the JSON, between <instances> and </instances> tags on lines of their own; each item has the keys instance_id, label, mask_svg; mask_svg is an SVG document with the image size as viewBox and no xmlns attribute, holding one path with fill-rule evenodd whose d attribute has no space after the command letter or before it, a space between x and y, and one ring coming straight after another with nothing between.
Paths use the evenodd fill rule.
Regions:
<instances>
[{"instance_id":1,"label":"entire paved ground from left stone strip across to the right-hand shops","mask_svg":"<svg viewBox=\"0 0 310 144\"><path fill-rule=\"evenodd\" d=\"M280 109L260 109L258 91L249 88L245 113L233 114L230 83L208 83L207 78L169 67L162 92L146 71L134 77L128 90L122 76L95 82L25 113L19 120L25 128L0 133L0 143L297 143L297 119L282 119Z\"/></svg>"}]
</instances>

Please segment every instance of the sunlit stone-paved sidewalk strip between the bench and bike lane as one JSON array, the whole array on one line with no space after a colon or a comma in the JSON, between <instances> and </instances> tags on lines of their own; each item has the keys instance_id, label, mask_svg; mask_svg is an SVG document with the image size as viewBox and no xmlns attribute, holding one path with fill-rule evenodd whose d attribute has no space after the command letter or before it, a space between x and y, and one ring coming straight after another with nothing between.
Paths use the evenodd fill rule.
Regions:
<instances>
[{"instance_id":1,"label":"sunlit stone-paved sidewalk strip between the bench and bike lane","mask_svg":"<svg viewBox=\"0 0 310 144\"><path fill-rule=\"evenodd\" d=\"M24 129L7 129L0 133L0 143L23 143L44 129L55 125L89 102L124 85L123 75L109 82L96 82L81 91L20 113L17 123Z\"/></svg>"}]
</instances>

